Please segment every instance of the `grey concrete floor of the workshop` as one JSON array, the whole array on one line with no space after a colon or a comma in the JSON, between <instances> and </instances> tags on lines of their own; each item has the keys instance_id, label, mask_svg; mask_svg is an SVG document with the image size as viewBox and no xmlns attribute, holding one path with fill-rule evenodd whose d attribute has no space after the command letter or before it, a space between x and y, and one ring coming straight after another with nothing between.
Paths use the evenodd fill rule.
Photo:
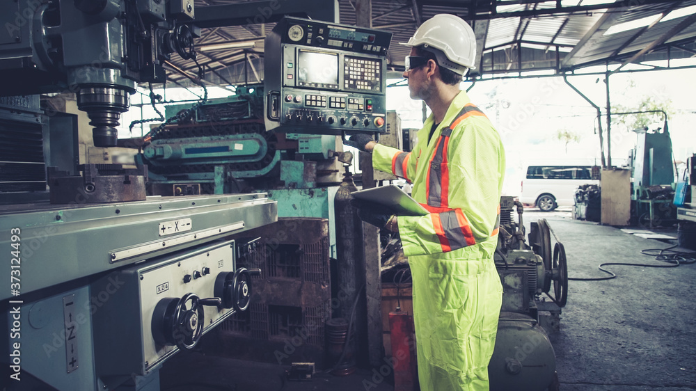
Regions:
<instances>
[{"instance_id":1,"label":"grey concrete floor of the workshop","mask_svg":"<svg viewBox=\"0 0 696 391\"><path fill-rule=\"evenodd\" d=\"M569 211L525 210L524 218L527 227L530 221L546 218L565 246L571 278L607 276L597 269L603 262L662 264L640 250L672 245L574 221ZM675 229L654 231L677 236ZM696 264L607 269L618 278L569 282L560 333L551 337L560 389L696 390ZM180 353L161 370L161 387L173 391L393 390L388 381L374 382L374 372L368 369L347 377L319 374L305 383L284 381L285 369L200 352Z\"/></svg>"}]
</instances>

